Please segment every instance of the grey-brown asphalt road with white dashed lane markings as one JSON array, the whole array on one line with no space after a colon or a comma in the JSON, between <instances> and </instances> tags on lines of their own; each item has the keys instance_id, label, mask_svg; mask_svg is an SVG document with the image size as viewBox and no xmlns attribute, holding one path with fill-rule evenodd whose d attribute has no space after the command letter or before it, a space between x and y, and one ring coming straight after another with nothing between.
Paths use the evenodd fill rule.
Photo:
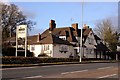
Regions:
<instances>
[{"instance_id":1,"label":"grey-brown asphalt road with white dashed lane markings","mask_svg":"<svg viewBox=\"0 0 120 80\"><path fill-rule=\"evenodd\" d=\"M34 78L116 78L116 80L118 80L118 63L64 64L3 68L1 71L3 79L15 80L30 80Z\"/></svg>"}]
</instances>

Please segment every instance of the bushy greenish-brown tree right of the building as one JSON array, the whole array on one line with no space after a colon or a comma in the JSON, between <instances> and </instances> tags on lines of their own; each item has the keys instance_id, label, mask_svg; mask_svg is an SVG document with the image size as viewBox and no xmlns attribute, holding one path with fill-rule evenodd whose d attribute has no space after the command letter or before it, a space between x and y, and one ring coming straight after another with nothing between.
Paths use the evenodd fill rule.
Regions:
<instances>
[{"instance_id":1,"label":"bushy greenish-brown tree right of the building","mask_svg":"<svg viewBox=\"0 0 120 80\"><path fill-rule=\"evenodd\" d=\"M111 51L116 51L119 33L113 29L111 20L106 19L96 23L95 32L107 44Z\"/></svg>"}]
</instances>

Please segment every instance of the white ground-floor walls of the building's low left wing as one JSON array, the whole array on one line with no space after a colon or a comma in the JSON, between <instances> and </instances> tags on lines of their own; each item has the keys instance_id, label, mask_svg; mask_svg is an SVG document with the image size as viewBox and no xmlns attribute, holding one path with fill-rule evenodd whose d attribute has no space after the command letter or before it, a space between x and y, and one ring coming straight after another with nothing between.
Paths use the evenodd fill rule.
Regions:
<instances>
[{"instance_id":1,"label":"white ground-floor walls of the building's low left wing","mask_svg":"<svg viewBox=\"0 0 120 80\"><path fill-rule=\"evenodd\" d=\"M45 50L44 46L49 45L49 50ZM67 47L66 53L60 52L61 46ZM34 47L34 50L32 50L32 47ZM29 47L31 52L34 52L35 57L38 57L41 53L46 53L50 57L54 58L69 58L70 55L74 56L74 48L71 45L63 45L63 44L41 44L41 45L30 45Z\"/></svg>"}]
</instances>

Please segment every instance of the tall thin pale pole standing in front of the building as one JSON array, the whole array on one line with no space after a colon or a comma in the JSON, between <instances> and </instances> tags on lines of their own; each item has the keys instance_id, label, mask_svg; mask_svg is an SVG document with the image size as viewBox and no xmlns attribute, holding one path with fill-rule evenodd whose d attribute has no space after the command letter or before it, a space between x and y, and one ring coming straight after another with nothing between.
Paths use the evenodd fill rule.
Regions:
<instances>
[{"instance_id":1,"label":"tall thin pale pole standing in front of the building","mask_svg":"<svg viewBox=\"0 0 120 80\"><path fill-rule=\"evenodd\" d=\"M83 28L83 4L84 4L84 0L82 1L82 28ZM80 37L80 45L79 45L79 52L80 52L80 60L79 62L82 62L82 33L83 30L81 28L81 37Z\"/></svg>"}]
</instances>

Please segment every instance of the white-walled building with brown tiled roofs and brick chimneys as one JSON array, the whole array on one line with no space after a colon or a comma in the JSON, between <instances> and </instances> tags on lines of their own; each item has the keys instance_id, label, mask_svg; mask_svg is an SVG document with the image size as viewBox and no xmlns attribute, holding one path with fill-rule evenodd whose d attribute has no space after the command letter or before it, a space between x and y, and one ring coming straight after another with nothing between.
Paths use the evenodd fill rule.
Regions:
<instances>
[{"instance_id":1,"label":"white-walled building with brown tiled roofs and brick chimneys","mask_svg":"<svg viewBox=\"0 0 120 80\"><path fill-rule=\"evenodd\" d=\"M94 34L89 26L84 25L82 30L82 57L104 58L108 48L101 39ZM51 20L49 29L42 34L28 36L28 50L33 52L35 57L45 53L54 58L78 58L80 35L81 29L78 29L77 23L72 24L72 27L56 28L55 21Z\"/></svg>"}]
</instances>

